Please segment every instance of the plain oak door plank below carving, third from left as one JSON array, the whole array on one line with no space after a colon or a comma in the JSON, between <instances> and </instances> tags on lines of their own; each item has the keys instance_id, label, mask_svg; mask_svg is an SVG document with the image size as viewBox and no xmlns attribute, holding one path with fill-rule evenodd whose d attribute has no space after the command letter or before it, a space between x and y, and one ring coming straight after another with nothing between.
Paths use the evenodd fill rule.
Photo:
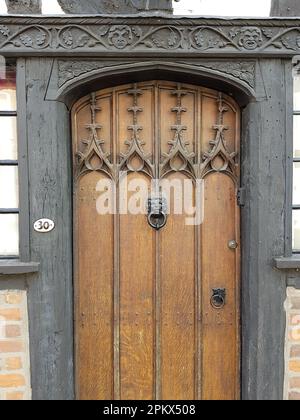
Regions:
<instances>
[{"instance_id":1,"label":"plain oak door plank below carving, third from left","mask_svg":"<svg viewBox=\"0 0 300 420\"><path fill-rule=\"evenodd\" d=\"M169 179L183 181L185 176L173 174ZM195 228L185 224L185 215L171 214L160 235L161 397L193 400L196 396Z\"/></svg>"}]
</instances>

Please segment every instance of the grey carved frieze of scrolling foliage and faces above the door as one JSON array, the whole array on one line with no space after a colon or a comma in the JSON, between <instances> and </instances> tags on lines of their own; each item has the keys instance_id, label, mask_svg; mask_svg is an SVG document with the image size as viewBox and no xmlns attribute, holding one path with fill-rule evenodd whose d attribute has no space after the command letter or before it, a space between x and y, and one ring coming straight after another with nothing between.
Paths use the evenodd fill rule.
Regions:
<instances>
[{"instance_id":1,"label":"grey carved frieze of scrolling foliage and faces above the door","mask_svg":"<svg viewBox=\"0 0 300 420\"><path fill-rule=\"evenodd\" d=\"M91 18L92 19L92 18ZM235 21L157 20L102 18L90 23L88 18L69 18L68 24L43 24L28 19L23 25L1 19L0 48L25 50L97 50L97 51L176 51L254 53L300 51L300 26L287 22L243 26ZM5 22L5 23L3 23ZM34 23L36 22L36 23Z\"/></svg>"}]
</instances>

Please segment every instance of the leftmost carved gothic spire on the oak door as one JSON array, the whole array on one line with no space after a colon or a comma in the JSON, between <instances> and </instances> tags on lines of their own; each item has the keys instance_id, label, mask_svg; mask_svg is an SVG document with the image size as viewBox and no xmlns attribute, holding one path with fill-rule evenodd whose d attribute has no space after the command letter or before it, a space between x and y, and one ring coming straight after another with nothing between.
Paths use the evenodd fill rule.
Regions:
<instances>
[{"instance_id":1,"label":"leftmost carved gothic spire on the oak door","mask_svg":"<svg viewBox=\"0 0 300 420\"><path fill-rule=\"evenodd\" d=\"M102 125L96 122L96 113L100 112L101 108L97 106L95 93L91 94L90 109L91 123L86 124L86 129L89 131L90 136L88 139L81 141L85 151L76 153L78 159L75 168L76 174L77 177L80 177L86 172L99 171L112 177L113 165L109 161L109 153L104 152L102 147L105 141L98 137L98 130L102 129Z\"/></svg>"}]
</instances>

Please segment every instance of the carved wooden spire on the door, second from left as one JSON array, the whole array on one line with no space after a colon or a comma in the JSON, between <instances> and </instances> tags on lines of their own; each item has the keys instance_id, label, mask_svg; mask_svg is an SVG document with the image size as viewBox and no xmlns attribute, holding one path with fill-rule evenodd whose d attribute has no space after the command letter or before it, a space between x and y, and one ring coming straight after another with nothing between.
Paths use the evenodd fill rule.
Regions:
<instances>
[{"instance_id":1,"label":"carved wooden spire on the door, second from left","mask_svg":"<svg viewBox=\"0 0 300 420\"><path fill-rule=\"evenodd\" d=\"M128 146L127 153L121 153L120 171L129 172L144 172L147 175L153 176L153 165L150 161L150 155L146 154L143 146L146 144L140 139L140 131L143 127L138 123L138 115L143 112L143 108L138 104L139 96L143 95L143 91L138 89L137 83L132 89L127 92L133 97L133 105L128 108L128 112L132 112L132 125L128 126L128 131L131 131L131 139L126 140L125 144Z\"/></svg>"}]
</instances>

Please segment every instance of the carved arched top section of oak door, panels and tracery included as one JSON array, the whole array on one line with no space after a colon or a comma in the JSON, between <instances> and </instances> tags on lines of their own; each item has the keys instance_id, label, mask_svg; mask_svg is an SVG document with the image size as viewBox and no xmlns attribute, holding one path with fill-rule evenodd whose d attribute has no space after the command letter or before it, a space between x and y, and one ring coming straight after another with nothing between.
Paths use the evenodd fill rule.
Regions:
<instances>
[{"instance_id":1,"label":"carved arched top section of oak door, panels and tracery included","mask_svg":"<svg viewBox=\"0 0 300 420\"><path fill-rule=\"evenodd\" d=\"M168 108L159 102L160 95ZM105 105L105 97L110 97L109 105ZM211 121L215 121L212 125L215 136L209 147L203 140L209 133L203 134L197 120L201 117L200 108L206 106L205 101L209 101ZM75 150L75 177L96 171L118 181L123 173L144 173L152 179L182 173L196 180L211 173L222 173L237 185L239 145L234 137L238 136L239 128L232 127L231 123L230 127L226 125L227 120L233 121L232 115L237 112L232 102L223 93L159 81L92 93L82 102L85 118L89 115L90 122L77 127L77 131L82 133L85 129L89 136L79 138ZM161 112L160 116L158 112ZM225 118L227 113L231 114L228 119ZM98 114L102 115L101 122L97 120ZM237 115L235 118L237 120ZM193 124L197 124L197 131ZM122 126L121 130L119 126ZM227 138L225 133L229 128L231 135Z\"/></svg>"}]
</instances>

